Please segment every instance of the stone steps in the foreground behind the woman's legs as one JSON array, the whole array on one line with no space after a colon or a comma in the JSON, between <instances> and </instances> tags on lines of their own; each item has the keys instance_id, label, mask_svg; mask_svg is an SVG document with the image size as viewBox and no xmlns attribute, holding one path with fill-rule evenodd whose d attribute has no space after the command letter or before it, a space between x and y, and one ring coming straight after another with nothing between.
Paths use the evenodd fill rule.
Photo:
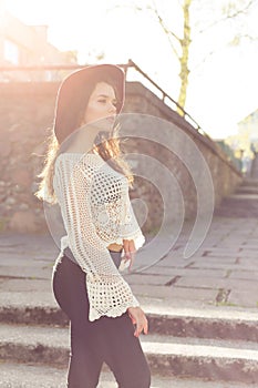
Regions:
<instances>
[{"instance_id":1,"label":"stone steps in the foreground behind the woman's legs","mask_svg":"<svg viewBox=\"0 0 258 388\"><path fill-rule=\"evenodd\" d=\"M33 299L33 297L32 297ZM148 314L142 337L154 388L258 387L258 325L246 313ZM0 387L64 388L68 319L55 306L0 308ZM115 387L103 368L97 388ZM132 387L140 388L140 387Z\"/></svg>"}]
</instances>

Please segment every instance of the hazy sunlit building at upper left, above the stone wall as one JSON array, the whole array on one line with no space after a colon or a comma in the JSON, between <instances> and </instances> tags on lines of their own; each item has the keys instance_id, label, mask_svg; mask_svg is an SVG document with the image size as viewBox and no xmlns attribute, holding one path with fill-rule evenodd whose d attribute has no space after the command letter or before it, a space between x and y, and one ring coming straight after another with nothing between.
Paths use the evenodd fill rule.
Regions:
<instances>
[{"instance_id":1,"label":"hazy sunlit building at upper left, above the stone wall","mask_svg":"<svg viewBox=\"0 0 258 388\"><path fill-rule=\"evenodd\" d=\"M76 52L61 52L48 42L48 25L27 25L0 0L0 81L54 81L59 71L7 71L7 67L76 63Z\"/></svg>"}]
</instances>

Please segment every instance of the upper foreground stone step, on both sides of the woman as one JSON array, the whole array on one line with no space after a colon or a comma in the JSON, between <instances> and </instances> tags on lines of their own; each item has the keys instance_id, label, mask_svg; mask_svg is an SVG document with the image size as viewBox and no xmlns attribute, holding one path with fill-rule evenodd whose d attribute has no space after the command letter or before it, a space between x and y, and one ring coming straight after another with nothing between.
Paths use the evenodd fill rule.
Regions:
<instances>
[{"instance_id":1,"label":"upper foreground stone step, on both sides of the woman","mask_svg":"<svg viewBox=\"0 0 258 388\"><path fill-rule=\"evenodd\" d=\"M219 312L218 312L219 314ZM230 319L173 314L147 314L149 331L174 336L214 339L248 340L258 343L257 319ZM69 319L58 307L0 307L0 321L12 325L68 327Z\"/></svg>"}]
</instances>

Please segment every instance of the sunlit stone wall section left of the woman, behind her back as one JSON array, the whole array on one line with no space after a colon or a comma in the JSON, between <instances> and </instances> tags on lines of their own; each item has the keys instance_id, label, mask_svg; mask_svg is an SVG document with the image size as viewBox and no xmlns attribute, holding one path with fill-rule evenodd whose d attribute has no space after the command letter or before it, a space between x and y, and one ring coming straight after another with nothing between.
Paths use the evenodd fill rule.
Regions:
<instances>
[{"instance_id":1,"label":"sunlit stone wall section left of the woman, behind her back","mask_svg":"<svg viewBox=\"0 0 258 388\"><path fill-rule=\"evenodd\" d=\"M37 187L44 139L51 126L58 84L0 84L0 222L1 229L45 228Z\"/></svg>"}]
</instances>

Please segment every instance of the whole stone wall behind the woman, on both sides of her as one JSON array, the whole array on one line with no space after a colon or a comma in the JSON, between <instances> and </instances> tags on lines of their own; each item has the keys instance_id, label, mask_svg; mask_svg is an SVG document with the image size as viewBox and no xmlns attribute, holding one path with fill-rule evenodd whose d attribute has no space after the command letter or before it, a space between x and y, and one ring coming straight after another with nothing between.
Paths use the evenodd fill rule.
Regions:
<instances>
[{"instance_id":1,"label":"whole stone wall behind the woman, on both sides of her","mask_svg":"<svg viewBox=\"0 0 258 388\"><path fill-rule=\"evenodd\" d=\"M53 120L56 83L2 83L0 84L0 231L45 232L43 207L33 193L37 174L41 171L45 151L45 137ZM241 175L226 160L216 144L199 134L176 112L166 106L141 83L127 83L124 112L144 113L165 119L185 131L196 143L207 161L215 188L216 204L241 182ZM169 141L169 140L168 140ZM185 216L196 214L196 191L184 164L164 147L152 142L131 140L127 151L140 150L173 170L182 187ZM205 190L205 187L204 187ZM147 180L136 177L132 198L147 203L148 217L144 232L155 229L162 222L163 201L158 187Z\"/></svg>"}]
</instances>

